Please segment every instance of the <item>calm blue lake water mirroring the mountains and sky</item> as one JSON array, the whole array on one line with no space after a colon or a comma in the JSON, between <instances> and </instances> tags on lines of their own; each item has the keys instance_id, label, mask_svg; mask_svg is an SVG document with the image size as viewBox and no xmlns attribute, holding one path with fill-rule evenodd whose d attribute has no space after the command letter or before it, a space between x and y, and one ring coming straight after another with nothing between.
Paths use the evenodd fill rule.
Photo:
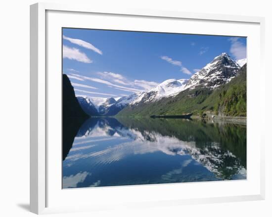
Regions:
<instances>
[{"instance_id":1,"label":"calm blue lake water mirroring the mountains and sky","mask_svg":"<svg viewBox=\"0 0 272 217\"><path fill-rule=\"evenodd\" d=\"M246 179L246 126L187 119L63 123L63 188Z\"/></svg>"}]
</instances>

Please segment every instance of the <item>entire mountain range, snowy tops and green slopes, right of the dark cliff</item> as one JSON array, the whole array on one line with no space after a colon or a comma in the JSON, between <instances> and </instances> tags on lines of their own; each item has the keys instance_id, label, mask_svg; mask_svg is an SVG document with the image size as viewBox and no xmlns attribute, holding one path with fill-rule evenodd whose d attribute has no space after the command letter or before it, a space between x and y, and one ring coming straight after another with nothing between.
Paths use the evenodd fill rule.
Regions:
<instances>
[{"instance_id":1,"label":"entire mountain range, snowy tops and green slopes, right of the dark cliff","mask_svg":"<svg viewBox=\"0 0 272 217\"><path fill-rule=\"evenodd\" d=\"M229 95L227 91L233 88L239 93L230 93L228 98L231 99L224 100L226 94ZM235 61L227 53L222 53L189 79L168 79L150 91L134 93L117 100L110 97L97 104L89 97L79 96L77 101L89 116L175 115L201 113L205 110L220 115L246 116L246 96L238 99L236 95L240 95L240 92L243 92L242 95L245 92L246 95L246 59ZM216 99L209 99L212 94ZM227 100L231 102L226 102ZM243 108L230 108L236 107L235 103Z\"/></svg>"}]
</instances>

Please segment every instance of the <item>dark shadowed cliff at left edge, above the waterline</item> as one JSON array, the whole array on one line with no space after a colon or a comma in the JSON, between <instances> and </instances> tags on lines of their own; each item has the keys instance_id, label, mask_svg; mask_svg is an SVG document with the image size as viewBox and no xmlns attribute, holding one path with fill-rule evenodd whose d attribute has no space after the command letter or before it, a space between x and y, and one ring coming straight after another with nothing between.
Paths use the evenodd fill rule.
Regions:
<instances>
[{"instance_id":1,"label":"dark shadowed cliff at left edge, above the waterline","mask_svg":"<svg viewBox=\"0 0 272 217\"><path fill-rule=\"evenodd\" d=\"M62 75L62 116L88 117L76 98L74 88L66 74Z\"/></svg>"}]
</instances>

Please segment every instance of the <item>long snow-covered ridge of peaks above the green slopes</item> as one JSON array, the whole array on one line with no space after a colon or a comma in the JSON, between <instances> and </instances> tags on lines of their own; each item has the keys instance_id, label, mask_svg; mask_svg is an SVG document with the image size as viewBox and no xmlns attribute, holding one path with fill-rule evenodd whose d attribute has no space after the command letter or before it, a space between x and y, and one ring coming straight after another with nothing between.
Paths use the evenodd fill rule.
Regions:
<instances>
[{"instance_id":1,"label":"long snow-covered ridge of peaks above the green slopes","mask_svg":"<svg viewBox=\"0 0 272 217\"><path fill-rule=\"evenodd\" d=\"M115 115L128 105L136 106L141 103L151 103L162 98L173 97L186 89L205 87L214 89L226 84L237 75L240 65L246 63L246 59L233 60L227 53L216 56L201 70L191 76L190 79L168 79L148 92L134 93L121 98L103 98L102 100L85 99L91 109L95 109L99 115ZM87 107L84 100L79 100L83 109ZM87 111L86 111L87 112ZM90 114L90 113L88 113Z\"/></svg>"}]
</instances>

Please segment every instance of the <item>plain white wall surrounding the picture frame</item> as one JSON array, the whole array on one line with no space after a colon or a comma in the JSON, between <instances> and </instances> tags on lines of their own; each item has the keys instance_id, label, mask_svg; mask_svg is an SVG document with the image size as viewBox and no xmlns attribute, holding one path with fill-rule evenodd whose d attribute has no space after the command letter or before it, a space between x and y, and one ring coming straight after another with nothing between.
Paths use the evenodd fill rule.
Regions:
<instances>
[{"instance_id":1,"label":"plain white wall surrounding the picture frame","mask_svg":"<svg viewBox=\"0 0 272 217\"><path fill-rule=\"evenodd\" d=\"M272 51L272 6L269 0L47 0L119 5L160 10L239 14L266 17L267 88L266 200L254 202L162 207L145 210L63 214L60 216L272 216L272 118L269 70ZM5 0L0 7L0 216L26 217L29 213L29 5L36 0ZM256 71L258 76L258 71Z\"/></svg>"}]
</instances>

